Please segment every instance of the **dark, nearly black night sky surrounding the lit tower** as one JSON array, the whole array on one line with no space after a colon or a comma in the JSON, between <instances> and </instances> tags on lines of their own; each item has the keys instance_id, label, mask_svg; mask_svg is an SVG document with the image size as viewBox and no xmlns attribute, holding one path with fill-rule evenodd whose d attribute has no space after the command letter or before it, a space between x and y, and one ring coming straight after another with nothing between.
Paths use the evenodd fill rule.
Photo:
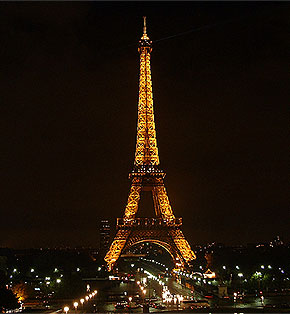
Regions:
<instances>
[{"instance_id":1,"label":"dark, nearly black night sky surrounding the lit tower","mask_svg":"<svg viewBox=\"0 0 290 314\"><path fill-rule=\"evenodd\" d=\"M290 241L289 3L1 2L0 246L96 246L123 215L143 15L186 237Z\"/></svg>"}]
</instances>

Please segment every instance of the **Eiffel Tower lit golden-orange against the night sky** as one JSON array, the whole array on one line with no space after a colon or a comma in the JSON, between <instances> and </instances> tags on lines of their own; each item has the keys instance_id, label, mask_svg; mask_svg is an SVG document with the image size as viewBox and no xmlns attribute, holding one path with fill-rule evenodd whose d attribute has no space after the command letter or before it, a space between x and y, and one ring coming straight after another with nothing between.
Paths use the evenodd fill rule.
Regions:
<instances>
[{"instance_id":1,"label":"Eiffel Tower lit golden-orange against the night sky","mask_svg":"<svg viewBox=\"0 0 290 314\"><path fill-rule=\"evenodd\" d=\"M139 41L140 78L135 161L129 174L131 189L123 218L117 218L117 232L105 256L111 270L122 253L131 246L151 242L163 247L176 268L184 268L195 255L180 227L182 218L175 218L164 186L165 172L159 166L156 141L150 69L152 41L146 32ZM151 191L156 217L136 218L142 191Z\"/></svg>"}]
</instances>

